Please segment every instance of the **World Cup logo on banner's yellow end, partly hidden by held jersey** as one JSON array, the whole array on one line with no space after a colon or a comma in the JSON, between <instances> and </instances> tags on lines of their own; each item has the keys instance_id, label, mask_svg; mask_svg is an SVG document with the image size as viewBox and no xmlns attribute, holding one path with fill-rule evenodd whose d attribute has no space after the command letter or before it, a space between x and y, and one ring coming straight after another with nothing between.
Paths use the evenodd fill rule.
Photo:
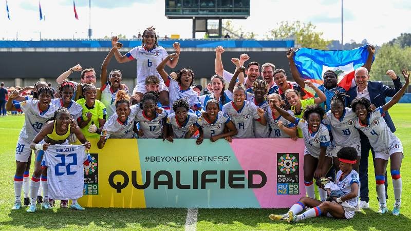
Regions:
<instances>
[{"instance_id":1,"label":"World Cup logo on banner's yellow end, partly hidden by held jersey","mask_svg":"<svg viewBox=\"0 0 411 231\"><path fill-rule=\"evenodd\" d=\"M91 161L87 166L84 166L84 189L83 195L98 195L99 194L99 169L98 169L98 154L90 153Z\"/></svg>"}]
</instances>

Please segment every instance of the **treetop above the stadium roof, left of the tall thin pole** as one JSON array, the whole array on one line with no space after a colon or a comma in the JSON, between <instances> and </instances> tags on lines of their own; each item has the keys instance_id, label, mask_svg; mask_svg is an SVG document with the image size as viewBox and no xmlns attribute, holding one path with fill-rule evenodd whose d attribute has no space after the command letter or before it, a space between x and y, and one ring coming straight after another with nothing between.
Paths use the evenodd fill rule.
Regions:
<instances>
[{"instance_id":1,"label":"treetop above the stadium roof, left of the tall thin pole","mask_svg":"<svg viewBox=\"0 0 411 231\"><path fill-rule=\"evenodd\" d=\"M268 39L293 37L295 38L295 43L301 45L301 47L321 50L326 50L328 44L330 44L330 41L322 38L323 32L314 31L316 26L311 22L305 24L300 21L282 21L277 25L277 28L271 29L266 34Z\"/></svg>"}]
</instances>

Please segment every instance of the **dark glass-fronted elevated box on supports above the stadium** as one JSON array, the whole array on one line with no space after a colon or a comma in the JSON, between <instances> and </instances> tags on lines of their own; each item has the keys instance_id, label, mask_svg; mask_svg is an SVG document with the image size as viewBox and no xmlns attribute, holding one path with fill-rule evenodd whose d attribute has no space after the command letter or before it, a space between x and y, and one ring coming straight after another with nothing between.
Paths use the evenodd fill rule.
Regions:
<instances>
[{"instance_id":1,"label":"dark glass-fronted elevated box on supports above the stadium","mask_svg":"<svg viewBox=\"0 0 411 231\"><path fill-rule=\"evenodd\" d=\"M192 19L193 38L195 32L221 37L221 20L249 17L250 0L165 0L165 16L169 19ZM218 26L209 20L218 20Z\"/></svg>"}]
</instances>

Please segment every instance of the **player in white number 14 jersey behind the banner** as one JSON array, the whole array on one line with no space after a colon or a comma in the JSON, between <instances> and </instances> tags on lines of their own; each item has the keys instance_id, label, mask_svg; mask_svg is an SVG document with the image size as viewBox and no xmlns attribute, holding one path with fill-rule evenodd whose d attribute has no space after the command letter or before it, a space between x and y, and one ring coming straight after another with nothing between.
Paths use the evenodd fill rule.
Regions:
<instances>
[{"instance_id":1,"label":"player in white number 14 jersey behind the banner","mask_svg":"<svg viewBox=\"0 0 411 231\"><path fill-rule=\"evenodd\" d=\"M233 79L236 79L238 74L244 72L245 69L242 66L237 68ZM257 120L260 124L267 125L267 120L264 116L265 111L255 106L254 103L246 101L246 90L241 85L234 88L233 79L230 81L229 86L229 89L234 89L233 101L225 104L222 107L222 112L229 115L237 128L238 133L233 138L254 138L253 121Z\"/></svg>"}]
</instances>

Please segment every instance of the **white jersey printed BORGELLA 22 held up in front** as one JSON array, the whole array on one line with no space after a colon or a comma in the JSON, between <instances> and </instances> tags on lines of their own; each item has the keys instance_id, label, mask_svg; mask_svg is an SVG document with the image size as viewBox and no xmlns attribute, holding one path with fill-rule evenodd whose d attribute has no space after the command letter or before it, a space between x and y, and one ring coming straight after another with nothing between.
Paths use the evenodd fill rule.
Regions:
<instances>
[{"instance_id":1,"label":"white jersey printed BORGELLA 22 held up in front","mask_svg":"<svg viewBox=\"0 0 411 231\"><path fill-rule=\"evenodd\" d=\"M67 200L83 196L83 162L88 157L83 145L55 144L44 151L50 199Z\"/></svg>"}]
</instances>

